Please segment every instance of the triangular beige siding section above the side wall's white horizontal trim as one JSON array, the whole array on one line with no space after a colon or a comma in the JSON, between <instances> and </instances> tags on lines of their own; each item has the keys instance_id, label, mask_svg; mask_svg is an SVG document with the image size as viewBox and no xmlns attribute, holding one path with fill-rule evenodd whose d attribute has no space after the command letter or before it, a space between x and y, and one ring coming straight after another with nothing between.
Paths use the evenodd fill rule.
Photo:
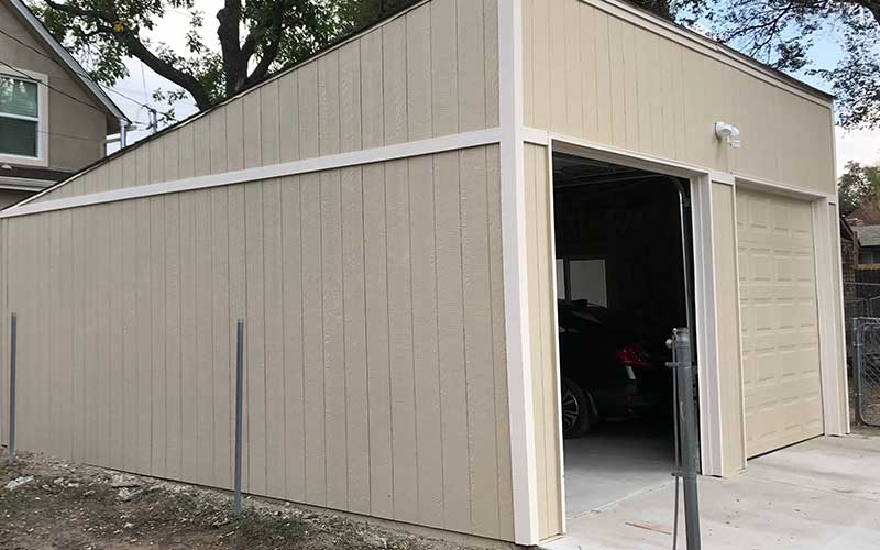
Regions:
<instances>
[{"instance_id":1,"label":"triangular beige siding section above the side wall's white horizontal trim","mask_svg":"<svg viewBox=\"0 0 880 550\"><path fill-rule=\"evenodd\" d=\"M497 10L421 4L36 200L496 128ZM123 173L132 155L143 180Z\"/></svg>"}]
</instances>

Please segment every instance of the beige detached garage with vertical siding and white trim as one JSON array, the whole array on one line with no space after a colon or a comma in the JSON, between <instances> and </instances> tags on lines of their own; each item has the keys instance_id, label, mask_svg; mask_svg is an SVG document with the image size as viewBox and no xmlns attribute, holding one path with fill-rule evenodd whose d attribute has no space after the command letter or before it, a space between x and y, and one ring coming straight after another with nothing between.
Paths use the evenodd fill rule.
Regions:
<instances>
[{"instance_id":1,"label":"beige detached garage with vertical siding and white trim","mask_svg":"<svg viewBox=\"0 0 880 550\"><path fill-rule=\"evenodd\" d=\"M600 296L691 326L735 476L849 431L832 111L618 0L419 2L0 213L0 415L15 312L20 448L229 488L242 318L246 493L536 544L673 468L562 443Z\"/></svg>"}]
</instances>

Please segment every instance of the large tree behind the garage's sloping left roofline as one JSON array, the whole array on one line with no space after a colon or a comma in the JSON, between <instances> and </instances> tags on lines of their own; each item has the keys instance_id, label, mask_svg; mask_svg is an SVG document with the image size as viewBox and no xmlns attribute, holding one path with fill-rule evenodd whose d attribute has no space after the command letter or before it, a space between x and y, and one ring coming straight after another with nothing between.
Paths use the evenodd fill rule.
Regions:
<instances>
[{"instance_id":1,"label":"large tree behind the garage's sloping left roofline","mask_svg":"<svg viewBox=\"0 0 880 550\"><path fill-rule=\"evenodd\" d=\"M204 110L361 24L356 18L373 13L367 8L392 3L406 2L224 0L216 13L219 48L202 40L205 13L194 0L35 0L32 9L98 82L116 84L128 75L125 58L135 57L183 89L160 91L158 99L189 95ZM350 4L363 4L363 15ZM168 11L183 10L189 16L184 52L145 36Z\"/></svg>"}]
</instances>

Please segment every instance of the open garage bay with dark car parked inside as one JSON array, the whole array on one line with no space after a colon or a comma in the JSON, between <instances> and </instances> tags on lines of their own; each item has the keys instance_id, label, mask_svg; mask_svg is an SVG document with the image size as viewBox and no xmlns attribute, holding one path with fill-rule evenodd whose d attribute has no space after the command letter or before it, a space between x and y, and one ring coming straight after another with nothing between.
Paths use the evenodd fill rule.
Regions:
<instances>
[{"instance_id":1,"label":"open garage bay with dark car parked inside","mask_svg":"<svg viewBox=\"0 0 880 550\"><path fill-rule=\"evenodd\" d=\"M670 482L664 344L674 327L688 326L680 188L688 194L689 182L553 155L569 517Z\"/></svg>"}]
</instances>

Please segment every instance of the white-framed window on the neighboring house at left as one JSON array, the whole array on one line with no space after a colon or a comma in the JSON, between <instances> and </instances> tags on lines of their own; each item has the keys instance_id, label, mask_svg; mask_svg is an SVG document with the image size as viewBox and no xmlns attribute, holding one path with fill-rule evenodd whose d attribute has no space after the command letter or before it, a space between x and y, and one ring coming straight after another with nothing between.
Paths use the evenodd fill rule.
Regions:
<instances>
[{"instance_id":1,"label":"white-framed window on the neighboring house at left","mask_svg":"<svg viewBox=\"0 0 880 550\"><path fill-rule=\"evenodd\" d=\"M40 77L0 75L0 161L45 158L46 94Z\"/></svg>"}]
</instances>

